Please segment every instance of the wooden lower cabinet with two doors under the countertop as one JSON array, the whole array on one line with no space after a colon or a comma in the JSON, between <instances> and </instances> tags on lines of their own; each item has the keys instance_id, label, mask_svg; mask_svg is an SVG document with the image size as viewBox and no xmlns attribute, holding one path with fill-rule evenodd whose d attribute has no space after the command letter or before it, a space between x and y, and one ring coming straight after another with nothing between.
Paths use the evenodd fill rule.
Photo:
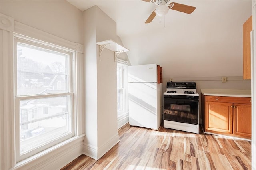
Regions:
<instances>
[{"instance_id":1,"label":"wooden lower cabinet with two doors under the countertop","mask_svg":"<svg viewBox=\"0 0 256 170\"><path fill-rule=\"evenodd\" d=\"M205 132L251 138L251 98L202 95Z\"/></svg>"}]
</instances>

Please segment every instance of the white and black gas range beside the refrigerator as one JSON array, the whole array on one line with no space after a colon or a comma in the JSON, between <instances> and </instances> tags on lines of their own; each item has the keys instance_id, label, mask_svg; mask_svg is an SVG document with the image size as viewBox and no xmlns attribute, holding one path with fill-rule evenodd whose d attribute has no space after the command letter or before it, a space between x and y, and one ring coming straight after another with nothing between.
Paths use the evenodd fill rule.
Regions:
<instances>
[{"instance_id":1,"label":"white and black gas range beside the refrigerator","mask_svg":"<svg viewBox=\"0 0 256 170\"><path fill-rule=\"evenodd\" d=\"M199 94L195 82L167 82L164 127L199 133Z\"/></svg>"}]
</instances>

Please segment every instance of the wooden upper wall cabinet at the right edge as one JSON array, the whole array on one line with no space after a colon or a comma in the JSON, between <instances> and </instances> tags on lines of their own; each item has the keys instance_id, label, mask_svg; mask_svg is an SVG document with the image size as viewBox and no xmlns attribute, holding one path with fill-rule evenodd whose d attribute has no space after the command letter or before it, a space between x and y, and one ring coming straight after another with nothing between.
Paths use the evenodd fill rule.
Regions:
<instances>
[{"instance_id":1,"label":"wooden upper wall cabinet at the right edge","mask_svg":"<svg viewBox=\"0 0 256 170\"><path fill-rule=\"evenodd\" d=\"M250 16L243 25L244 79L251 79L251 31L252 16Z\"/></svg>"}]
</instances>

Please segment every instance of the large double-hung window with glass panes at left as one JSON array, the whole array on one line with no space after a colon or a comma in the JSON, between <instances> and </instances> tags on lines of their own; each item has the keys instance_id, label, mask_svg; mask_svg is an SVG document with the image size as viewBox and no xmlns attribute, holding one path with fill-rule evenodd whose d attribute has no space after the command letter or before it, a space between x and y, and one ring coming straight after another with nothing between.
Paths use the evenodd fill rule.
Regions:
<instances>
[{"instance_id":1,"label":"large double-hung window with glass panes at left","mask_svg":"<svg viewBox=\"0 0 256 170\"><path fill-rule=\"evenodd\" d=\"M72 51L14 39L16 162L74 136Z\"/></svg>"}]
</instances>

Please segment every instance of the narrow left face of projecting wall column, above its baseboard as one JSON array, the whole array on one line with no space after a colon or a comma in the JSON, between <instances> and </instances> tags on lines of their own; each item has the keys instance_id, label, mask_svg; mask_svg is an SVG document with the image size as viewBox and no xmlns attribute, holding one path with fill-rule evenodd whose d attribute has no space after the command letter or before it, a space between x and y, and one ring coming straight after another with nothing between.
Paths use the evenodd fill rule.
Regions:
<instances>
[{"instance_id":1,"label":"narrow left face of projecting wall column, above its baseboard","mask_svg":"<svg viewBox=\"0 0 256 170\"><path fill-rule=\"evenodd\" d=\"M85 56L85 131L84 142L97 146L98 143L98 88L97 88L97 45L96 45L96 11L88 9L83 13L84 24L84 56Z\"/></svg>"}]
</instances>

